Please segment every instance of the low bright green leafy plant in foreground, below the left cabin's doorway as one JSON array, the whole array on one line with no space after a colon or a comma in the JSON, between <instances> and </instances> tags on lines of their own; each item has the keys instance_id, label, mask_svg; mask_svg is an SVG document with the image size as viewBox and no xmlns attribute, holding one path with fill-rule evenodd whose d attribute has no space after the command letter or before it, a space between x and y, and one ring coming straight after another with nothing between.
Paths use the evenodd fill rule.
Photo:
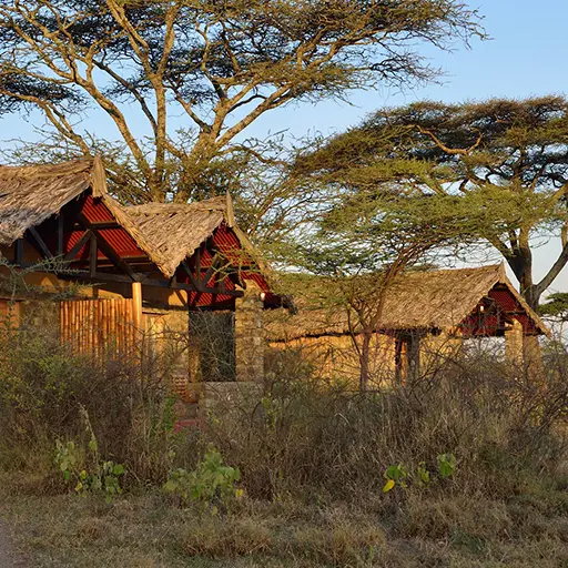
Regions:
<instances>
[{"instance_id":1,"label":"low bright green leafy plant in foreground, below the left cabin's doorway","mask_svg":"<svg viewBox=\"0 0 568 568\"><path fill-rule=\"evenodd\" d=\"M220 505L226 508L232 499L242 497L242 489L235 487L240 479L241 471L224 465L221 454L210 446L195 470L172 471L164 491L185 506L196 504L202 510L216 514Z\"/></svg>"}]
</instances>

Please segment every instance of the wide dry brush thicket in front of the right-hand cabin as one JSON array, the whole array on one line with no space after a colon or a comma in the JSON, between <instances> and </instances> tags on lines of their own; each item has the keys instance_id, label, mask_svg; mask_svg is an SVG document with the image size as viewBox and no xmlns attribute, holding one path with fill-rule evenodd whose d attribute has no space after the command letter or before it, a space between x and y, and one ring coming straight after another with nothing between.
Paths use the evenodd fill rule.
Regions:
<instances>
[{"instance_id":1,"label":"wide dry brush thicket in front of the right-hand cabin","mask_svg":"<svg viewBox=\"0 0 568 568\"><path fill-rule=\"evenodd\" d=\"M429 490L499 498L561 463L555 425L568 408L567 375L556 367L544 387L498 361L491 367L474 358L382 393L281 377L253 413L237 424L212 420L206 436L240 468L253 498L368 503L396 464Z\"/></svg>"}]
</instances>

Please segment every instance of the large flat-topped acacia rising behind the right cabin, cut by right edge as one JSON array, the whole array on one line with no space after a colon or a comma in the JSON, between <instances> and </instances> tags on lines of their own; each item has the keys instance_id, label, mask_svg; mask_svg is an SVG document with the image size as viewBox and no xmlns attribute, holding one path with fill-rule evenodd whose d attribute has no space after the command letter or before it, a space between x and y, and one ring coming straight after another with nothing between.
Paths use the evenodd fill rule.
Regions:
<instances>
[{"instance_id":1,"label":"large flat-topped acacia rising behind the right cabin, cut by right edge","mask_svg":"<svg viewBox=\"0 0 568 568\"><path fill-rule=\"evenodd\" d=\"M358 199L390 195L402 215L426 207L432 223L457 223L462 239L477 235L503 255L535 310L568 262L561 97L382 110L304 156L297 172ZM536 282L534 248L542 239L562 247Z\"/></svg>"}]
</instances>

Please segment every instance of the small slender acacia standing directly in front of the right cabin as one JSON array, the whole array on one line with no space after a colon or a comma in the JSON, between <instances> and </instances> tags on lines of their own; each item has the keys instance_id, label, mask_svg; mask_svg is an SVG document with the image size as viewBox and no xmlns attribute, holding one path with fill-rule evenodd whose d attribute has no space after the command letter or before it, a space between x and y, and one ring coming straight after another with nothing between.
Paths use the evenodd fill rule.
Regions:
<instances>
[{"instance_id":1,"label":"small slender acacia standing directly in front of the right cabin","mask_svg":"<svg viewBox=\"0 0 568 568\"><path fill-rule=\"evenodd\" d=\"M423 206L402 215L388 195L343 195L323 215L314 237L296 248L296 264L318 278L315 290L301 278L294 295L307 295L312 307L344 316L358 357L362 392L372 379L372 338L381 331L389 288L405 271L426 267L464 232L464 222L449 213L440 224L437 209Z\"/></svg>"}]
</instances>

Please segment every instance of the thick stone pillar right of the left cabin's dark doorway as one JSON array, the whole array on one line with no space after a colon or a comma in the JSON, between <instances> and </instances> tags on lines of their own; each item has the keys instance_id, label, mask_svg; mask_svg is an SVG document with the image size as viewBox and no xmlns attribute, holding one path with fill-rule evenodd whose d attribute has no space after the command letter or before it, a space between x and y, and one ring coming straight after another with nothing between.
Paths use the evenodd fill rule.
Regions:
<instances>
[{"instance_id":1,"label":"thick stone pillar right of the left cabin's dark doorway","mask_svg":"<svg viewBox=\"0 0 568 568\"><path fill-rule=\"evenodd\" d=\"M246 284L244 296L235 302L236 381L260 383L264 378L264 302L258 286Z\"/></svg>"}]
</instances>

